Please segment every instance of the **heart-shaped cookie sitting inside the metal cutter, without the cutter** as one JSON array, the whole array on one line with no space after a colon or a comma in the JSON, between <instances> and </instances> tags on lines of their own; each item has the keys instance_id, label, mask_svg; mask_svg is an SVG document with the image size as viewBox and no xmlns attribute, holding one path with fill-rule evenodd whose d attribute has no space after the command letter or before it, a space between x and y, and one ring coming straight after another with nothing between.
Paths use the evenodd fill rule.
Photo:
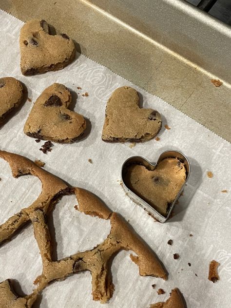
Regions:
<instances>
[{"instance_id":1,"label":"heart-shaped cookie sitting inside the metal cutter, without the cutter","mask_svg":"<svg viewBox=\"0 0 231 308\"><path fill-rule=\"evenodd\" d=\"M154 209L166 216L169 206L186 180L184 164L177 158L165 158L153 171L142 165L130 165L124 183Z\"/></svg>"}]
</instances>

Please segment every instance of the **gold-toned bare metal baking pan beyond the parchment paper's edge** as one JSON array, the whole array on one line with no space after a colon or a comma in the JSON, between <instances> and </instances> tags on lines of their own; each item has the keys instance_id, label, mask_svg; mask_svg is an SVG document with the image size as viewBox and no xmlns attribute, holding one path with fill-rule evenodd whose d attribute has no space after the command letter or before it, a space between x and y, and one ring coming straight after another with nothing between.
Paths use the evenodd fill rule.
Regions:
<instances>
[{"instance_id":1,"label":"gold-toned bare metal baking pan beyond the parchment paper's edge","mask_svg":"<svg viewBox=\"0 0 231 308\"><path fill-rule=\"evenodd\" d=\"M47 20L82 54L231 142L230 27L180 0L140 3L5 0L0 8L23 21Z\"/></svg>"}]
</instances>

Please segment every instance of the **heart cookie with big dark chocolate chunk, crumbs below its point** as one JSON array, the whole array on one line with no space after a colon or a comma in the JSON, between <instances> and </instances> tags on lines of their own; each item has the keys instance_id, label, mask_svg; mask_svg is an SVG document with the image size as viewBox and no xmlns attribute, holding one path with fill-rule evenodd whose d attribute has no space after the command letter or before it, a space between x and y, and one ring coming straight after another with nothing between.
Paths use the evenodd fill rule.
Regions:
<instances>
[{"instance_id":1,"label":"heart cookie with big dark chocolate chunk, crumbs below its point","mask_svg":"<svg viewBox=\"0 0 231 308\"><path fill-rule=\"evenodd\" d=\"M86 129L86 121L68 109L71 99L71 93L63 84L54 83L46 88L26 120L24 133L61 143L76 141Z\"/></svg>"}]
</instances>

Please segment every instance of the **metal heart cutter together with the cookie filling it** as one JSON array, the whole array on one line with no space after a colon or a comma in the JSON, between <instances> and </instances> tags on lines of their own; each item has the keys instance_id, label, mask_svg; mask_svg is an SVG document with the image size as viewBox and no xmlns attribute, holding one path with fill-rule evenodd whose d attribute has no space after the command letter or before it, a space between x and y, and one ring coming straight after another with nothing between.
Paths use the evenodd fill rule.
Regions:
<instances>
[{"instance_id":1,"label":"metal heart cutter together with the cookie filling it","mask_svg":"<svg viewBox=\"0 0 231 308\"><path fill-rule=\"evenodd\" d=\"M179 151L165 151L156 164L141 156L128 158L121 170L125 191L155 219L165 222L190 175L190 163Z\"/></svg>"}]
</instances>

